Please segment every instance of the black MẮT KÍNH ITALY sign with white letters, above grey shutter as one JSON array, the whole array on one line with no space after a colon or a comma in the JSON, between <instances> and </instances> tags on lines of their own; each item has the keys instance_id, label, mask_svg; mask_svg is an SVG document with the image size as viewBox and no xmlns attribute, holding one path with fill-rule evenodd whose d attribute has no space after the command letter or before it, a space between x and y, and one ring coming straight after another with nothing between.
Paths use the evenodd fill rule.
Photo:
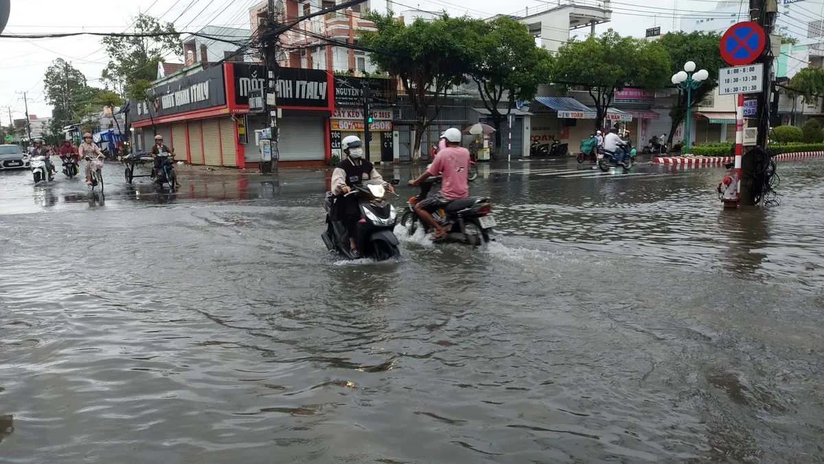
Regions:
<instances>
[{"instance_id":1,"label":"black M\u1eaeT K\u00cdNH ITALY sign with white letters, above grey shutter","mask_svg":"<svg viewBox=\"0 0 824 464\"><path fill-rule=\"evenodd\" d=\"M251 91L266 85L266 69L260 64L233 63L235 104L249 105ZM329 108L331 89L328 74L319 69L279 68L277 105L279 107Z\"/></svg>"}]
</instances>

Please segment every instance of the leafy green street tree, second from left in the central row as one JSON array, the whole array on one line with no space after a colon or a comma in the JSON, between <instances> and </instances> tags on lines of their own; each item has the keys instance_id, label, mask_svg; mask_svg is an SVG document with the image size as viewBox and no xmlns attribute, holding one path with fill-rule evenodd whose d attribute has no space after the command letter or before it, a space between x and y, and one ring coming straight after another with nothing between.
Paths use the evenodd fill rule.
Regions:
<instances>
[{"instance_id":1,"label":"leafy green street tree, second from left in the central row","mask_svg":"<svg viewBox=\"0 0 824 464\"><path fill-rule=\"evenodd\" d=\"M537 48L525 24L508 16L475 22L480 54L470 75L478 86L480 100L489 110L496 130L495 147L501 146L501 124L507 120L515 101L530 101L538 86L550 82L552 56ZM499 103L506 101L501 112Z\"/></svg>"}]
</instances>

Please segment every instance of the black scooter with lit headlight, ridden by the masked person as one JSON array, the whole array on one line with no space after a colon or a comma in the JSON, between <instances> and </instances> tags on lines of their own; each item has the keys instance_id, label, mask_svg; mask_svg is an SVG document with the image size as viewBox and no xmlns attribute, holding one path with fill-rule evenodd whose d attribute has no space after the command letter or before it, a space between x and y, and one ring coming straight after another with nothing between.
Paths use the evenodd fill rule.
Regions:
<instances>
[{"instance_id":1,"label":"black scooter with lit headlight, ridden by the masked person","mask_svg":"<svg viewBox=\"0 0 824 464\"><path fill-rule=\"evenodd\" d=\"M392 185L398 185L400 180L391 180ZM349 248L349 234L346 232L343 218L335 214L335 202L342 197L355 195L358 198L358 208L361 219L358 221L358 244L360 257L371 258L376 261L390 260L400 257L400 242L392 230L395 228L397 211L383 197L386 189L380 180L367 180L363 185L355 185L346 195L333 195L326 192L323 208L326 210L326 230L321 234L326 248L337 252L350 260L358 259Z\"/></svg>"}]
</instances>

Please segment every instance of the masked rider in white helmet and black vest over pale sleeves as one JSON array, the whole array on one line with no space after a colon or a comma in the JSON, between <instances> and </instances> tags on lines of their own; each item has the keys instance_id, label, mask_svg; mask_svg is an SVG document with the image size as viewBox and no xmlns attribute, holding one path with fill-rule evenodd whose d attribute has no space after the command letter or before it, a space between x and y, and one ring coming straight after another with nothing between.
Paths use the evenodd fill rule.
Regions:
<instances>
[{"instance_id":1,"label":"masked rider in white helmet and black vest over pale sleeves","mask_svg":"<svg viewBox=\"0 0 824 464\"><path fill-rule=\"evenodd\" d=\"M340 143L343 148L344 159L339 162L335 171L332 171L332 193L334 195L348 194L355 185L363 184L363 180L380 180L383 177L375 171L369 160L363 159L363 142L355 135L344 137ZM387 190L395 193L395 188L387 185ZM361 218L358 199L341 196L335 201L335 214L343 217L346 233L349 235L349 250L352 255L359 256L357 237L358 221Z\"/></svg>"}]
</instances>

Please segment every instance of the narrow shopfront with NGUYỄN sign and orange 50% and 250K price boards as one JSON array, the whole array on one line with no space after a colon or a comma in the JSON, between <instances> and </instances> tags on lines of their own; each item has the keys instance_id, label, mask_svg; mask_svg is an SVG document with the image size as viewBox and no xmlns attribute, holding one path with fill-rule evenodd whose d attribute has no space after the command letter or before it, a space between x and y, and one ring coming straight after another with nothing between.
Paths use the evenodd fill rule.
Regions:
<instances>
[{"instance_id":1,"label":"narrow shopfront with NGUY\u1ec4N sign and orange 50% and 250K price boards","mask_svg":"<svg viewBox=\"0 0 824 464\"><path fill-rule=\"evenodd\" d=\"M369 124L369 161L392 162L394 141L392 138L392 110L390 80L382 78L336 76L335 112L330 120L330 150L333 155L343 157L341 141L355 135L365 144L365 123L363 121L363 88L368 85L372 124Z\"/></svg>"}]
</instances>

